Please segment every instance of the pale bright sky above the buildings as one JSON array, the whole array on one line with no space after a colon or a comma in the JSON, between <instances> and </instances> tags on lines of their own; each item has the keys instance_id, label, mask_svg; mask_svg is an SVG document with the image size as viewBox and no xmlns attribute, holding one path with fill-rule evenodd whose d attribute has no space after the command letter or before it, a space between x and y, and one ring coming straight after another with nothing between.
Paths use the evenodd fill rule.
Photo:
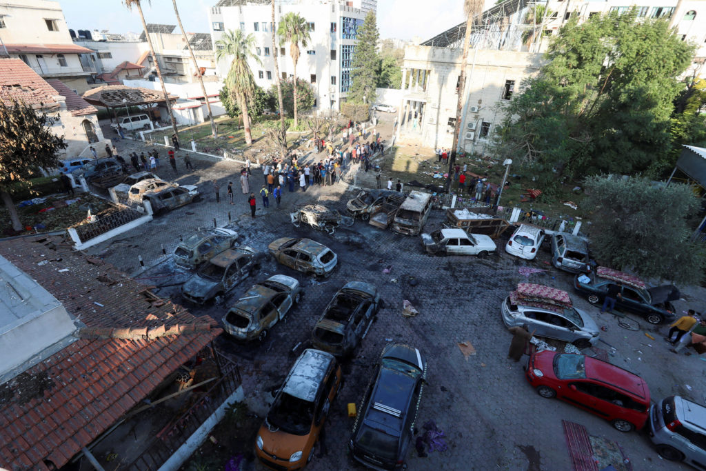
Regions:
<instances>
[{"instance_id":1,"label":"pale bright sky above the buildings","mask_svg":"<svg viewBox=\"0 0 706 471\"><path fill-rule=\"evenodd\" d=\"M216 0L177 0L181 22L188 32L208 32L208 8ZM137 11L128 11L121 0L59 0L68 28L141 32ZM171 0L142 0L147 23L176 25ZM423 40L461 23L462 0L378 0L378 30L381 39Z\"/></svg>"}]
</instances>

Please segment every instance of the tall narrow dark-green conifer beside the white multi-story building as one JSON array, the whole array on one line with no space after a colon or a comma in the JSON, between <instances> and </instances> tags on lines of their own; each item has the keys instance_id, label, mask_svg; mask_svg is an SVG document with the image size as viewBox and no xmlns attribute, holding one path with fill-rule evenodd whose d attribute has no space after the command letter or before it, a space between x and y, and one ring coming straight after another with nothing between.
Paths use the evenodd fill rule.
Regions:
<instances>
[{"instance_id":1,"label":"tall narrow dark-green conifer beside the white multi-story building","mask_svg":"<svg viewBox=\"0 0 706 471\"><path fill-rule=\"evenodd\" d=\"M351 91L348 93L349 102L374 103L376 101L379 37L375 11L371 10L365 16L363 25L358 30L358 42L353 53L351 68L353 83Z\"/></svg>"}]
</instances>

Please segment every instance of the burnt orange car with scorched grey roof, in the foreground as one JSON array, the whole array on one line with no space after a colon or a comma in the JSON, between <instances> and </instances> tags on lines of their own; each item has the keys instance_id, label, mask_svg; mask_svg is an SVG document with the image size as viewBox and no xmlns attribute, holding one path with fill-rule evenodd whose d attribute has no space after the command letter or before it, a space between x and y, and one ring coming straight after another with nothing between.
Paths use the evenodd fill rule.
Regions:
<instances>
[{"instance_id":1,"label":"burnt orange car with scorched grey roof, in the foreground","mask_svg":"<svg viewBox=\"0 0 706 471\"><path fill-rule=\"evenodd\" d=\"M258 431L255 454L265 466L300 470L311 461L341 379L332 354L304 350Z\"/></svg>"}]
</instances>

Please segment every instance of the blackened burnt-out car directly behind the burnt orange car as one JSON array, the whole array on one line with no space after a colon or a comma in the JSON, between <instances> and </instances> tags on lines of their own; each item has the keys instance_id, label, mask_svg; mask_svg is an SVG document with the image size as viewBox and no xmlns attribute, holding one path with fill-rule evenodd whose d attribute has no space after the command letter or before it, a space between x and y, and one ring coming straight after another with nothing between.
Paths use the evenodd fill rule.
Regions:
<instances>
[{"instance_id":1,"label":"blackened burnt-out car directly behind the burnt orange car","mask_svg":"<svg viewBox=\"0 0 706 471\"><path fill-rule=\"evenodd\" d=\"M351 354L363 340L381 307L378 289L370 283L347 283L333 296L311 334L311 344L337 357Z\"/></svg>"}]
</instances>

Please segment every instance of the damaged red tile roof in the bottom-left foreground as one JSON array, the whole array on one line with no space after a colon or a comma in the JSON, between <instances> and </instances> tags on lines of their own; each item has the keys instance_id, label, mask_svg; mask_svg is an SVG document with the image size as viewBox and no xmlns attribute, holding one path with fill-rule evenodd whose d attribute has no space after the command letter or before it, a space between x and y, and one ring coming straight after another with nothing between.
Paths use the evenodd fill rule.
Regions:
<instances>
[{"instance_id":1,"label":"damaged red tile roof in the bottom-left foreground","mask_svg":"<svg viewBox=\"0 0 706 471\"><path fill-rule=\"evenodd\" d=\"M143 285L60 237L0 243L0 255L88 326L78 333L88 338L0 385L0 467L65 465L221 333L170 302L148 302Z\"/></svg>"}]
</instances>

